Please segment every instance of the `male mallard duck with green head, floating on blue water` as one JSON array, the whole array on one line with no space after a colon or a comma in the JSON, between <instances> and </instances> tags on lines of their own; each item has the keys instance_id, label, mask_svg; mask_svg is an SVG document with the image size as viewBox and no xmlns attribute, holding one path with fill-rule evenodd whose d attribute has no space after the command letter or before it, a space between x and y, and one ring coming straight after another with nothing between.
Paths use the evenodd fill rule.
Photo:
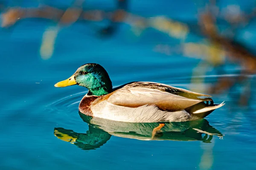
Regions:
<instances>
[{"instance_id":1,"label":"male mallard duck with green head, floating on blue water","mask_svg":"<svg viewBox=\"0 0 256 170\"><path fill-rule=\"evenodd\" d=\"M79 104L81 113L121 122L185 122L204 118L224 105L214 104L209 95L157 82L130 82L113 88L107 71L96 63L82 65L55 87L70 85L89 90Z\"/></svg>"}]
</instances>

